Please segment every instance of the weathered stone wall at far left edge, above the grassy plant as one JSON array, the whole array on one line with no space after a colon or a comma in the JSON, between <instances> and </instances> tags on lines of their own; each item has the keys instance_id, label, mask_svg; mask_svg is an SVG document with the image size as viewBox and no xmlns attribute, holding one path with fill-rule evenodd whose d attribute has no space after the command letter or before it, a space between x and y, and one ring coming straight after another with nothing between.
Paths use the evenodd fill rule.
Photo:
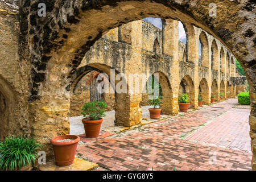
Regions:
<instances>
[{"instance_id":1,"label":"weathered stone wall at far left edge, above the grassy plant","mask_svg":"<svg viewBox=\"0 0 256 182\"><path fill-rule=\"evenodd\" d=\"M30 63L19 57L19 1L0 1L0 139L30 134ZM24 50L23 50L24 51Z\"/></svg>"}]
</instances>

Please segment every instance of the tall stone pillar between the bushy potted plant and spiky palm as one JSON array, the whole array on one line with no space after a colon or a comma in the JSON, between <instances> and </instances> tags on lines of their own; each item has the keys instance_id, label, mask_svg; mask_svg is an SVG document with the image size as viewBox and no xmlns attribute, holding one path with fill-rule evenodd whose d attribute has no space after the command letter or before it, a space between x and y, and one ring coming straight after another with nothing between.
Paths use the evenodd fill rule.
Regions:
<instances>
[{"instance_id":1,"label":"tall stone pillar between the bushy potted plant and spiky palm","mask_svg":"<svg viewBox=\"0 0 256 182\"><path fill-rule=\"evenodd\" d=\"M132 79L129 79L129 73L141 74L143 73L142 65L142 20L130 22L125 24L126 27L119 27L119 40L123 40L131 44L132 53L130 60L125 65L125 75L127 77L127 93L119 94L117 100L119 104L116 105L115 119L118 126L134 126L138 125L142 121L142 108L140 102L142 101L141 84L136 84ZM123 31L125 30L125 31ZM133 78L133 76L131 76ZM136 76L135 76L136 78ZM139 93L131 92L135 91L134 88L139 87Z\"/></svg>"}]
</instances>

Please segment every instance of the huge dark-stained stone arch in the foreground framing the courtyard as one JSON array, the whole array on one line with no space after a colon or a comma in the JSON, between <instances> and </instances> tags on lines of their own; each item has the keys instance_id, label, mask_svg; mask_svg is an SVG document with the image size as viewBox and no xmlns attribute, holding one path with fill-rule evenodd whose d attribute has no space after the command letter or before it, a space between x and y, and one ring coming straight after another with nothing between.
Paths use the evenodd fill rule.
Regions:
<instances>
[{"instance_id":1,"label":"huge dark-stained stone arch in the foreground framing the courtyard","mask_svg":"<svg viewBox=\"0 0 256 182\"><path fill-rule=\"evenodd\" d=\"M62 113L58 116L56 112L61 109L65 110L67 107L72 74L80 64L85 52L109 29L132 20L146 18L149 15L166 19L180 19L219 37L245 69L252 103L250 115L251 146L254 153L252 165L253 169L256 169L256 106L254 104L256 51L253 46L255 4L252 1L243 1L241 4L234 1L225 1L225 3L214 1L217 6L217 14L232 9L230 13L216 17L208 16L208 1L90 1L90 3L75 0L49 1L46 18L37 16L38 3L39 1L23 0L20 8L20 14L23 15L20 18L20 23L27 25L20 30L20 41L21 44L27 45L27 49L23 51L30 48L30 52L27 54L29 57L24 56L21 59L30 60L32 64L30 84L32 85L30 97L32 112L30 115L34 115L34 117L43 115L43 118L49 119L51 118L49 113L51 113L57 118L65 117L65 114ZM237 16L238 14L240 16ZM229 22L231 20L232 22ZM233 26L229 26L230 23ZM27 35L28 32L29 35ZM133 43L138 43L137 40L133 40ZM191 42L191 40L189 41ZM198 51L196 50L196 52ZM26 54L20 52L20 55ZM134 60L137 60L137 56L139 55L134 56ZM172 56L174 56L174 60L177 60L177 55ZM195 56L196 59L198 56ZM135 65L135 63L136 61L130 64ZM138 65L139 67L141 65ZM139 98L134 99L139 100ZM52 109L53 105L60 106L60 102L64 105ZM137 104L137 101L134 103ZM48 122L51 122L51 119ZM62 133L65 132L60 131L58 134ZM38 136L37 133L34 135ZM41 141L47 143L50 137L51 135L48 135Z\"/></svg>"}]
</instances>

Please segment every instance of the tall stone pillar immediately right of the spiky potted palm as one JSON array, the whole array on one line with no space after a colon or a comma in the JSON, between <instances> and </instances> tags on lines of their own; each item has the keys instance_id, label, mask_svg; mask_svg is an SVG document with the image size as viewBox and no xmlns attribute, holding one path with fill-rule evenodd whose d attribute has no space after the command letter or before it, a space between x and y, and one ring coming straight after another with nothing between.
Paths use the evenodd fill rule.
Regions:
<instances>
[{"instance_id":1,"label":"tall stone pillar immediately right of the spiky potted palm","mask_svg":"<svg viewBox=\"0 0 256 182\"><path fill-rule=\"evenodd\" d=\"M178 113L179 105L178 105L178 98L179 98L179 22L173 19L162 19L163 23L163 54L172 56L172 66L170 68L171 73L171 86L172 86L172 111L173 115Z\"/></svg>"}]
</instances>

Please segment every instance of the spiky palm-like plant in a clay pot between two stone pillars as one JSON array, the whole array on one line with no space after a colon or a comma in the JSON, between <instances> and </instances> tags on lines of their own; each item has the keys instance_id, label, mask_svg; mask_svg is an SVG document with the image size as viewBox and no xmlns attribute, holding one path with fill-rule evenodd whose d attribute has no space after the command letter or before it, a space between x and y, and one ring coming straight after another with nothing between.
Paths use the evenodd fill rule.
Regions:
<instances>
[{"instance_id":1,"label":"spiky palm-like plant in a clay pot between two stone pillars","mask_svg":"<svg viewBox=\"0 0 256 182\"><path fill-rule=\"evenodd\" d=\"M148 85L149 86L149 85ZM148 96L151 96L151 99L148 99L148 104L151 106L154 106L154 109L156 106L160 106L162 104L162 96L161 95L161 86L159 82L155 82L154 76L152 76L151 80L151 93L147 93Z\"/></svg>"}]
</instances>

